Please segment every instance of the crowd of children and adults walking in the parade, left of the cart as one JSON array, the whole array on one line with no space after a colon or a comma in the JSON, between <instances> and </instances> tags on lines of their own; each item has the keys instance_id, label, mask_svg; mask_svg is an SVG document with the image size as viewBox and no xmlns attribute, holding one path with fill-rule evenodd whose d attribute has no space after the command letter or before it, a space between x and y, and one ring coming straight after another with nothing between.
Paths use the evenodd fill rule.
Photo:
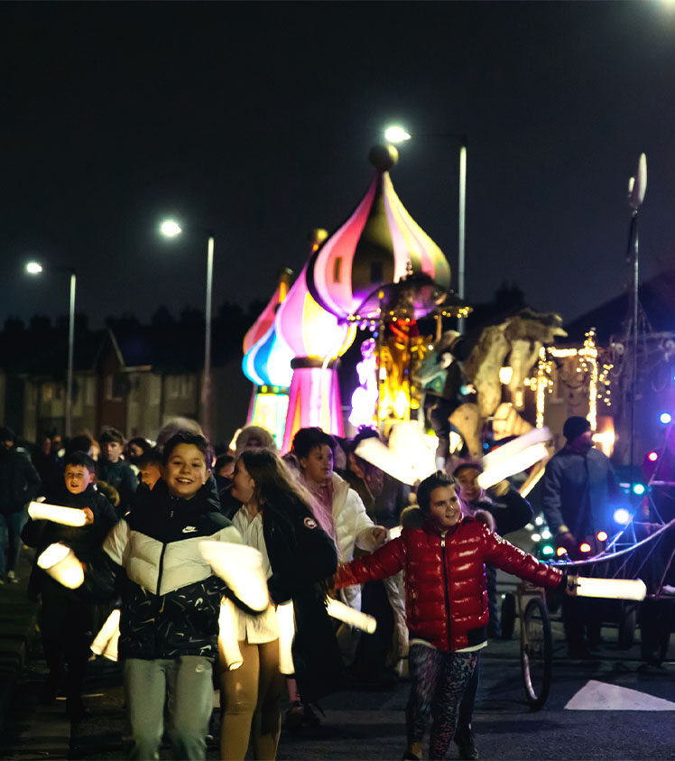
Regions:
<instances>
[{"instance_id":1,"label":"crowd of children and adults walking in the parade, left of the cart","mask_svg":"<svg viewBox=\"0 0 675 761\"><path fill-rule=\"evenodd\" d=\"M586 427L567 433L574 443ZM40 601L49 667L42 701L65 691L69 718L86 715L89 645L118 608L125 757L157 758L166 737L176 757L204 758L216 688L221 757L243 759L250 747L273 759L284 723L318 724L325 695L350 683L391 686L407 659L403 757L421 757L431 719L430 758L444 758L453 738L462 758L477 758L479 655L500 634L496 569L561 591L566 575L503 538L532 519L507 481L485 491L480 464L461 461L407 487L359 456L370 436L342 441L305 428L282 457L270 432L248 426L216 454L196 422L177 419L156 441L106 427L96 441L44 437L30 456L0 430L1 580L17 580L23 544L35 557L65 544L83 571L68 589L33 563L28 593ZM27 503L42 498L81 511L83 524L28 518ZM551 518L563 540L565 498L559 524ZM251 608L214 571L199 552L205 539L260 553L266 608ZM374 634L328 617L331 597L373 616ZM236 668L218 639L224 601L235 611ZM290 601L294 668L282 674L278 611ZM569 645L578 646L576 623Z\"/></svg>"}]
</instances>

